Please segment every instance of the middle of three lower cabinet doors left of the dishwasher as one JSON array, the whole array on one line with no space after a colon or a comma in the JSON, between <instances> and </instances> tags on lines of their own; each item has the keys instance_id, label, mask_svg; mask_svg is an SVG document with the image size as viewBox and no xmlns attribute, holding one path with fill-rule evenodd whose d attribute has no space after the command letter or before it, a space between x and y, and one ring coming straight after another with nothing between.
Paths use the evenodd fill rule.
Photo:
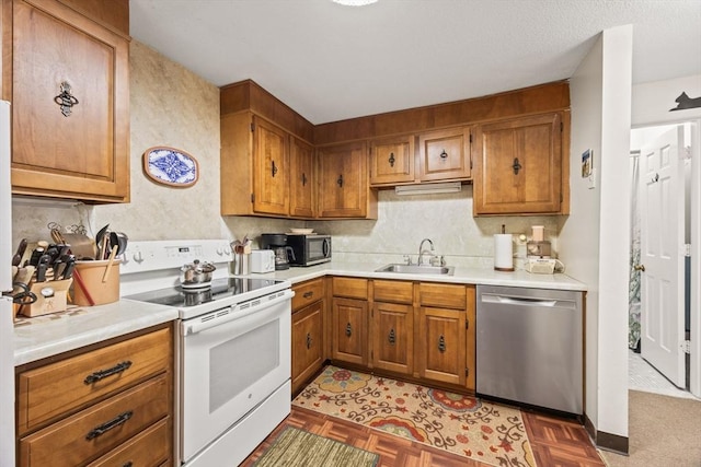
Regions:
<instances>
[{"instance_id":1,"label":"middle of three lower cabinet doors left of the dishwasher","mask_svg":"<svg viewBox=\"0 0 701 467\"><path fill-rule=\"evenodd\" d=\"M414 370L414 310L376 302L372 310L372 365L411 374Z\"/></svg>"}]
</instances>

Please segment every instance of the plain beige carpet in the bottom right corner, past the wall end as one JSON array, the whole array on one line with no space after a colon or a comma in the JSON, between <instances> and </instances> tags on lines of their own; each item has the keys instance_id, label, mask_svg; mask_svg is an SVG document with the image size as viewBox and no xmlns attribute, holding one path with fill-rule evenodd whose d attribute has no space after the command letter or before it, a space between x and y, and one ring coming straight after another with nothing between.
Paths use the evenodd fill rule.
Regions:
<instances>
[{"instance_id":1,"label":"plain beige carpet in the bottom right corner, past the wall end","mask_svg":"<svg viewBox=\"0 0 701 467\"><path fill-rule=\"evenodd\" d=\"M629 390L629 456L601 451L609 467L700 467L701 401Z\"/></svg>"}]
</instances>

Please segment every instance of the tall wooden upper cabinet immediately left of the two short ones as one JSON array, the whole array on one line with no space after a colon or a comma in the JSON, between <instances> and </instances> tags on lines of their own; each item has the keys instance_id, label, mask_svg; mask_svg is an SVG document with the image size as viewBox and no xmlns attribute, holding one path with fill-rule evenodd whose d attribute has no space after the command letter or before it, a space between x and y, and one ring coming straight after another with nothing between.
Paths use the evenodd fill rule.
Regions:
<instances>
[{"instance_id":1,"label":"tall wooden upper cabinet immediately left of the two short ones","mask_svg":"<svg viewBox=\"0 0 701 467\"><path fill-rule=\"evenodd\" d=\"M377 192L369 189L364 141L320 148L319 217L377 219Z\"/></svg>"}]
</instances>

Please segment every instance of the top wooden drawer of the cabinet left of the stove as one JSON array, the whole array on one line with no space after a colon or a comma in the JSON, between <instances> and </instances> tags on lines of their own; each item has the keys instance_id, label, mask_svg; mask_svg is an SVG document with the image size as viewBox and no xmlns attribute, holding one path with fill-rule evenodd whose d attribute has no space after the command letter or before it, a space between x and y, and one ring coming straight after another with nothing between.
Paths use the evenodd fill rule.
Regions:
<instances>
[{"instance_id":1,"label":"top wooden drawer of the cabinet left of the stove","mask_svg":"<svg viewBox=\"0 0 701 467\"><path fill-rule=\"evenodd\" d=\"M165 372L171 361L169 327L23 372L18 377L18 434Z\"/></svg>"}]
</instances>

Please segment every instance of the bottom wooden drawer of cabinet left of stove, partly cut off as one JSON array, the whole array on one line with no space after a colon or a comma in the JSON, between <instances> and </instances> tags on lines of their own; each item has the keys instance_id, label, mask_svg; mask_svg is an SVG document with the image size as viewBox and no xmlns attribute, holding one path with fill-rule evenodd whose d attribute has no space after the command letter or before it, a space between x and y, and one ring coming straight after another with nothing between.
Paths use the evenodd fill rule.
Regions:
<instances>
[{"instance_id":1,"label":"bottom wooden drawer of cabinet left of stove, partly cut off","mask_svg":"<svg viewBox=\"0 0 701 467\"><path fill-rule=\"evenodd\" d=\"M165 418L88 467L158 466L171 458L171 419Z\"/></svg>"}]
</instances>

